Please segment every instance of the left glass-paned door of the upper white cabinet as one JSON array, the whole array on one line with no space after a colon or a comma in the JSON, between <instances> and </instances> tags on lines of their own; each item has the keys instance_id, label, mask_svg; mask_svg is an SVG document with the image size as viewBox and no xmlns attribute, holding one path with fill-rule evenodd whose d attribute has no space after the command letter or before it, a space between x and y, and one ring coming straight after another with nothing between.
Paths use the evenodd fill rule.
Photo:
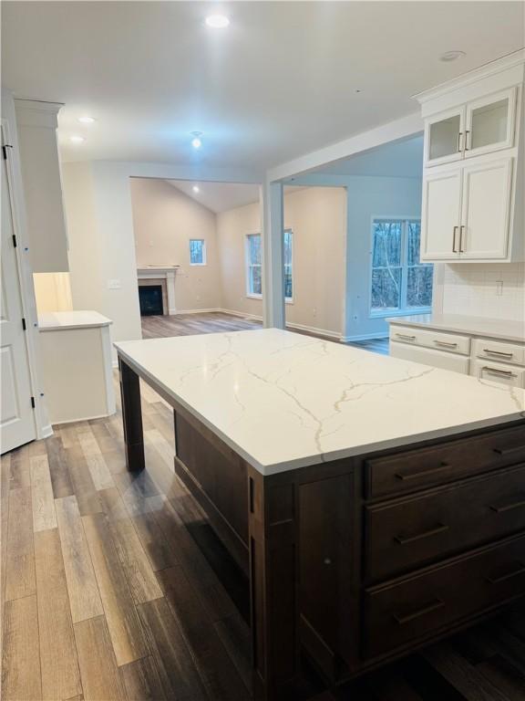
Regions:
<instances>
[{"instance_id":1,"label":"left glass-paned door of the upper white cabinet","mask_svg":"<svg viewBox=\"0 0 525 701\"><path fill-rule=\"evenodd\" d=\"M464 108L440 112L426 121L426 165L439 165L463 158L464 122Z\"/></svg>"}]
</instances>

